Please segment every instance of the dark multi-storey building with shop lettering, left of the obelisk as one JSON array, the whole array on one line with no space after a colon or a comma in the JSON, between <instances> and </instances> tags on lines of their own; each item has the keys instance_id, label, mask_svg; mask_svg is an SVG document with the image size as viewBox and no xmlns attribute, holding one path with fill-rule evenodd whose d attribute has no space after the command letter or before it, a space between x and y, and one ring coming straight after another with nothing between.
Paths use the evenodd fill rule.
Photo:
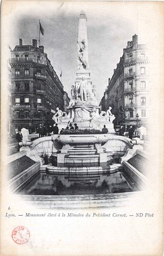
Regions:
<instances>
[{"instance_id":1,"label":"dark multi-storey building with shop lettering, left of the obelisk","mask_svg":"<svg viewBox=\"0 0 164 256\"><path fill-rule=\"evenodd\" d=\"M64 88L43 46L19 46L11 51L12 131L25 127L32 133L39 124L52 126L56 108L64 111Z\"/></svg>"}]
</instances>

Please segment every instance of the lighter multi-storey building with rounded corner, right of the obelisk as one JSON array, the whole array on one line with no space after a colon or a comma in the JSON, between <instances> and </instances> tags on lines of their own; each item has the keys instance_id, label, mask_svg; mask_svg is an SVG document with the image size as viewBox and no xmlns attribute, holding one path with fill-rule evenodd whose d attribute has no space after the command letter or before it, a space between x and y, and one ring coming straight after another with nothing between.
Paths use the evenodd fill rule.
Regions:
<instances>
[{"instance_id":1,"label":"lighter multi-storey building with rounded corner, right of the obelisk","mask_svg":"<svg viewBox=\"0 0 164 256\"><path fill-rule=\"evenodd\" d=\"M138 44L138 36L127 42L117 68L109 79L108 88L100 102L102 110L110 106L115 123L146 126L149 116L150 71L146 45Z\"/></svg>"}]
</instances>

